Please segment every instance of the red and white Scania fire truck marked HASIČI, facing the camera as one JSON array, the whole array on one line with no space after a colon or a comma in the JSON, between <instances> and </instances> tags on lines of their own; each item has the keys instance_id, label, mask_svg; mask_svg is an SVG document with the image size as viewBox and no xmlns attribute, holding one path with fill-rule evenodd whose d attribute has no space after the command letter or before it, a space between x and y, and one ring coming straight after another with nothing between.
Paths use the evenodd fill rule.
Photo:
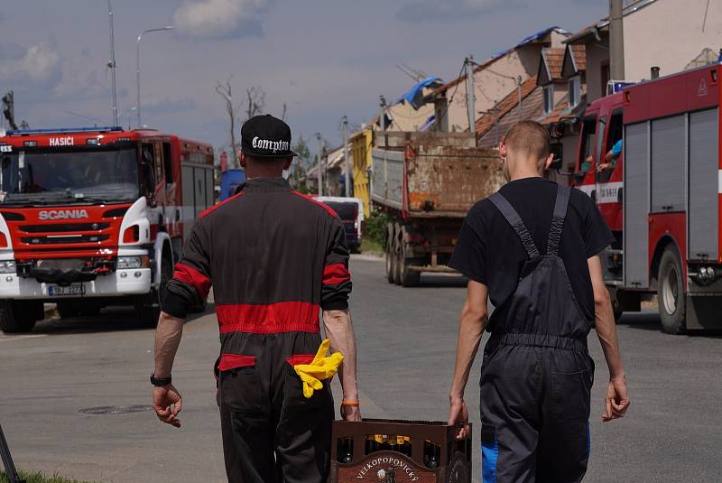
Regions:
<instances>
[{"instance_id":1,"label":"red and white Scania fire truck marked HASI\u010cI, facing the camera","mask_svg":"<svg viewBox=\"0 0 722 483\"><path fill-rule=\"evenodd\" d=\"M209 144L151 129L0 136L0 329L132 304L158 318L183 237L213 205Z\"/></svg>"}]
</instances>

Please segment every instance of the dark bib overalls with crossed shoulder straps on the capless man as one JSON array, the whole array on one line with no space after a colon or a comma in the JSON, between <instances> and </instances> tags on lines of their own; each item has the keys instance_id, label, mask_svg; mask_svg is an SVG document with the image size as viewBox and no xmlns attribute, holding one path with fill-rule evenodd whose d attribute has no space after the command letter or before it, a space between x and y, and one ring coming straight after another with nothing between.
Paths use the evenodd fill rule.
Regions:
<instances>
[{"instance_id":1,"label":"dark bib overalls with crossed shoulder straps on the capless man","mask_svg":"<svg viewBox=\"0 0 722 483\"><path fill-rule=\"evenodd\" d=\"M592 321L579 308L560 258L569 188L560 187L541 255L504 197L491 197L529 259L514 294L492 315L481 374L485 483L580 481L589 455Z\"/></svg>"}]
</instances>

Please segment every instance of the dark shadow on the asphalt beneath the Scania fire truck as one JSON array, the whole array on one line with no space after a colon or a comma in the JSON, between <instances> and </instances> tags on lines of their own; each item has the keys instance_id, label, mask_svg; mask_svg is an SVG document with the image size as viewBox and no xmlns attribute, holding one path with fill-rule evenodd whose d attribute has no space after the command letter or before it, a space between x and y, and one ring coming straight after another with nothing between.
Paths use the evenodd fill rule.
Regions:
<instances>
[{"instance_id":1,"label":"dark shadow on the asphalt beneath the Scania fire truck","mask_svg":"<svg viewBox=\"0 0 722 483\"><path fill-rule=\"evenodd\" d=\"M198 313L190 313L186 323L198 320L208 313L216 311L216 305L208 303L206 310ZM52 336L70 334L88 334L102 332L123 332L129 330L155 330L144 325L138 320L133 307L130 306L109 306L103 308L97 316L69 317L60 319L58 315L51 316L45 320L38 320L32 334L45 334Z\"/></svg>"}]
</instances>

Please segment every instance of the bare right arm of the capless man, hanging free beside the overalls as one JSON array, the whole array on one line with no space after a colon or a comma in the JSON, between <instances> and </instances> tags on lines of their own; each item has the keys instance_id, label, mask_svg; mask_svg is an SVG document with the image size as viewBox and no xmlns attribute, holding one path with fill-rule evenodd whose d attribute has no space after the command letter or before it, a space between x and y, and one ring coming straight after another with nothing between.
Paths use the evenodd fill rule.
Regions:
<instances>
[{"instance_id":1,"label":"bare right arm of the capless man, hanging free beside the overalls","mask_svg":"<svg viewBox=\"0 0 722 483\"><path fill-rule=\"evenodd\" d=\"M622 366L622 356L616 338L616 322L614 311L612 311L612 302L602 276L602 263L595 255L588 259L588 265L594 290L595 328L606 359L606 367L609 368L606 408L602 420L610 421L625 415L629 407L629 397L626 392L625 369Z\"/></svg>"}]
</instances>

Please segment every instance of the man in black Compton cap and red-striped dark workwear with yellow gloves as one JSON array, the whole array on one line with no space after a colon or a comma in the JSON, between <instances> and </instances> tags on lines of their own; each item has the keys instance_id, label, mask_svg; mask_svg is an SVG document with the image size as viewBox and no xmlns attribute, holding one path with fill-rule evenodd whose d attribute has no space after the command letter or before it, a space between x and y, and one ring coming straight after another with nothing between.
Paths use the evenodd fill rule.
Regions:
<instances>
[{"instance_id":1,"label":"man in black Compton cap and red-striped dark workwear with yellow gloves","mask_svg":"<svg viewBox=\"0 0 722 483\"><path fill-rule=\"evenodd\" d=\"M189 308L213 286L218 404L231 483L327 481L334 417L328 377L338 357L329 359L332 369L322 366L328 348L321 346L319 310L331 349L343 354L341 415L361 418L344 227L332 209L282 178L294 155L290 147L291 129L281 119L245 122L247 181L200 214L168 283L156 331L153 407L163 423L180 426L173 358ZM303 366L315 371L311 384L301 379Z\"/></svg>"}]
</instances>

